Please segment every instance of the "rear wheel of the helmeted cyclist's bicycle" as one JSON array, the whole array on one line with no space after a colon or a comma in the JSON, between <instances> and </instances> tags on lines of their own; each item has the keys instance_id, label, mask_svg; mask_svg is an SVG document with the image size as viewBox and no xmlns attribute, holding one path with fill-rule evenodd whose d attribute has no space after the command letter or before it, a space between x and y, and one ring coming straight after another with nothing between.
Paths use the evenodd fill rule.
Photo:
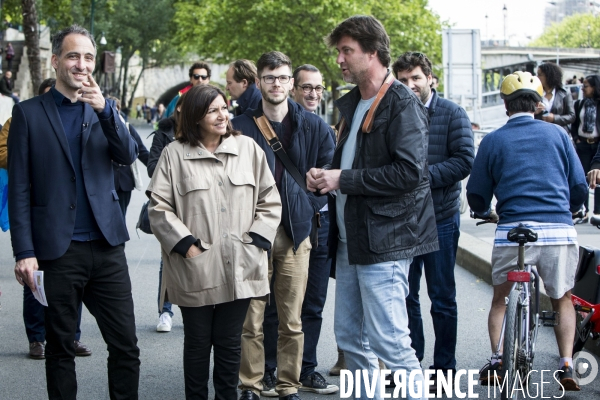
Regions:
<instances>
[{"instance_id":1,"label":"rear wheel of the helmeted cyclist's bicycle","mask_svg":"<svg viewBox=\"0 0 600 400\"><path fill-rule=\"evenodd\" d=\"M502 369L504 378L502 379L502 400L512 399L512 388L518 368L519 353L519 327L517 321L517 306L520 289L514 289L508 296L508 306L506 307L506 325L504 327L504 345L502 346Z\"/></svg>"}]
</instances>

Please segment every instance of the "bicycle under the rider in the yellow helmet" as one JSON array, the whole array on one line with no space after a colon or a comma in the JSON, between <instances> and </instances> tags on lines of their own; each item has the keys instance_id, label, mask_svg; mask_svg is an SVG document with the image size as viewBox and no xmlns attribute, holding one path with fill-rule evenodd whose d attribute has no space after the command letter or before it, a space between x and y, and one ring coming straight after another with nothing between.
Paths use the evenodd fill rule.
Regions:
<instances>
[{"instance_id":1,"label":"bicycle under the rider in the yellow helmet","mask_svg":"<svg viewBox=\"0 0 600 400\"><path fill-rule=\"evenodd\" d=\"M471 212L471 217L484 219L476 225L494 222ZM535 344L540 324L555 325L555 313L543 311L540 316L540 277L533 265L525 265L525 244L537 241L537 233L519 224L508 232L509 241L518 243L517 269L510 271L507 281L513 282L506 298L506 312L495 356L502 350L501 398L512 399L514 389L529 385L529 372L533 369ZM535 298L535 302L533 302ZM494 376L493 379L497 377ZM498 383L500 383L498 381ZM518 386L515 386L518 385Z\"/></svg>"}]
</instances>

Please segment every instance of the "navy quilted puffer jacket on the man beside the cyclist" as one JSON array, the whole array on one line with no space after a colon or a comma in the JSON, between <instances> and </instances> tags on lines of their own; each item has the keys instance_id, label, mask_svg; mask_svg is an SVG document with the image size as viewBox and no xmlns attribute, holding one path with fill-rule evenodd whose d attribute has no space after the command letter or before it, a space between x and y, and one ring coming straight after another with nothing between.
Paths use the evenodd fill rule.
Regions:
<instances>
[{"instance_id":1,"label":"navy quilted puffer jacket on the man beside the cyclist","mask_svg":"<svg viewBox=\"0 0 600 400\"><path fill-rule=\"evenodd\" d=\"M432 89L429 104L429 182L435 218L442 221L460 208L461 181L471 173L473 130L465 110Z\"/></svg>"}]
</instances>

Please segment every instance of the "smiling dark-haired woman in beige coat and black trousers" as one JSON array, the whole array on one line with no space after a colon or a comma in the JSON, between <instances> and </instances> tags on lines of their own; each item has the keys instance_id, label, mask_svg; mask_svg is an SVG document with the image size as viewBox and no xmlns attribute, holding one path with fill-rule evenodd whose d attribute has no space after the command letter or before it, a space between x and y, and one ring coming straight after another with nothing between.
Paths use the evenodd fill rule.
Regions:
<instances>
[{"instance_id":1,"label":"smiling dark-haired woman in beige coat and black trousers","mask_svg":"<svg viewBox=\"0 0 600 400\"><path fill-rule=\"evenodd\" d=\"M179 305L187 399L237 398L242 325L250 299L269 293L267 250L281 218L262 149L234 131L225 94L185 95L177 140L162 152L146 191L164 260L161 305Z\"/></svg>"}]
</instances>

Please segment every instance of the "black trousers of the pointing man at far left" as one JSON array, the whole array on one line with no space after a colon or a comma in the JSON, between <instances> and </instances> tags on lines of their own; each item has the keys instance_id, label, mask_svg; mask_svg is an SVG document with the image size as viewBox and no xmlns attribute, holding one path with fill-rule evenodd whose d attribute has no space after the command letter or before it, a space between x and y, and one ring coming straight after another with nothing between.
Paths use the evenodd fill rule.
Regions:
<instances>
[{"instance_id":1,"label":"black trousers of the pointing man at far left","mask_svg":"<svg viewBox=\"0 0 600 400\"><path fill-rule=\"evenodd\" d=\"M78 307L83 300L96 318L107 345L111 400L137 399L140 350L124 245L111 246L106 240L73 241L62 257L39 260L39 267L44 271L48 299L45 310L48 398L77 398L73 340Z\"/></svg>"}]
</instances>

